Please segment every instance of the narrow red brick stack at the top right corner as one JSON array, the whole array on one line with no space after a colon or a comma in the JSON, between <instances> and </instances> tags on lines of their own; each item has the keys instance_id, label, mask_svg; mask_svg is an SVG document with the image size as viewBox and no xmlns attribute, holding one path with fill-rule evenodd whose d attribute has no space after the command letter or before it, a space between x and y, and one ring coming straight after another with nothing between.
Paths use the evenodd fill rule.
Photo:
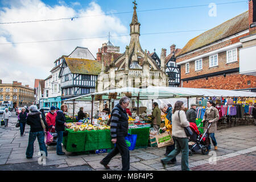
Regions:
<instances>
[{"instance_id":1,"label":"narrow red brick stack at the top right corner","mask_svg":"<svg viewBox=\"0 0 256 182\"><path fill-rule=\"evenodd\" d=\"M250 35L256 34L256 1L249 1L249 32Z\"/></svg>"}]
</instances>

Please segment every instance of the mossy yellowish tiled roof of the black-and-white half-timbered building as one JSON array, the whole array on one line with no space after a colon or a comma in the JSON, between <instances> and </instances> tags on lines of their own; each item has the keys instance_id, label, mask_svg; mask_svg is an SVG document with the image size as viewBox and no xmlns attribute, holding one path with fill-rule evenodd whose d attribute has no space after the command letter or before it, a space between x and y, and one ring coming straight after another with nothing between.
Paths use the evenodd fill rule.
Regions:
<instances>
[{"instance_id":1,"label":"mossy yellowish tiled roof of the black-and-white half-timbered building","mask_svg":"<svg viewBox=\"0 0 256 182\"><path fill-rule=\"evenodd\" d=\"M101 72L101 64L96 60L77 59L64 57L71 73L84 75L99 75Z\"/></svg>"}]
</instances>

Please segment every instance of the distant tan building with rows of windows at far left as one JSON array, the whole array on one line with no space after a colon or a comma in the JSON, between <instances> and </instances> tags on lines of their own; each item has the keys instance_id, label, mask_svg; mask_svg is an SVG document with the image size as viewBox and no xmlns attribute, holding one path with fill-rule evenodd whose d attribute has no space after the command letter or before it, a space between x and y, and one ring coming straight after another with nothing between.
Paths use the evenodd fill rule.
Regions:
<instances>
[{"instance_id":1,"label":"distant tan building with rows of windows at far left","mask_svg":"<svg viewBox=\"0 0 256 182\"><path fill-rule=\"evenodd\" d=\"M13 81L13 84L3 84L0 80L0 102L1 104L9 102L12 106L18 107L30 106L34 102L34 89L18 81Z\"/></svg>"}]
</instances>

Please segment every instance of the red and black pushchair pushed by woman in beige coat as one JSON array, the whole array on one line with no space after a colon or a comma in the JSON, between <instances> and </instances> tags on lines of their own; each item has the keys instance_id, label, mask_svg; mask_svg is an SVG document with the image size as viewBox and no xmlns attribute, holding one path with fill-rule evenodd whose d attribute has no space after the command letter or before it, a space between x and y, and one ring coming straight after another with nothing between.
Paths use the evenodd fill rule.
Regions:
<instances>
[{"instance_id":1,"label":"red and black pushchair pushed by woman in beige coat","mask_svg":"<svg viewBox=\"0 0 256 182\"><path fill-rule=\"evenodd\" d=\"M199 124L199 126L200 126L200 124ZM189 142L188 142L189 156L192 156L193 152L196 152L199 150L201 150L203 155L209 154L209 145L210 145L209 127L210 127L210 125L212 125L212 123L210 123L208 125L204 134L201 134L201 132L198 130L195 123L192 123L192 122L189 123L189 127L193 131L193 134L191 135L191 137L189 137Z\"/></svg>"}]
</instances>

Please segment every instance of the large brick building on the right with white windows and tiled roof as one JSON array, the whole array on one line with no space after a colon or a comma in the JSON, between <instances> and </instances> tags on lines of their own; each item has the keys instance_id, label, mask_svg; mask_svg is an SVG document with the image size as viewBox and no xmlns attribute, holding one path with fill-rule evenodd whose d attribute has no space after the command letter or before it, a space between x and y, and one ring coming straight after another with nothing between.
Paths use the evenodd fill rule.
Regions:
<instances>
[{"instance_id":1,"label":"large brick building on the right with white windows and tiled roof","mask_svg":"<svg viewBox=\"0 0 256 182\"><path fill-rule=\"evenodd\" d=\"M176 55L181 66L181 87L256 89L256 76L240 74L241 39L255 34L255 28L249 28L252 12L253 1L250 1L249 11L189 40Z\"/></svg>"}]
</instances>

